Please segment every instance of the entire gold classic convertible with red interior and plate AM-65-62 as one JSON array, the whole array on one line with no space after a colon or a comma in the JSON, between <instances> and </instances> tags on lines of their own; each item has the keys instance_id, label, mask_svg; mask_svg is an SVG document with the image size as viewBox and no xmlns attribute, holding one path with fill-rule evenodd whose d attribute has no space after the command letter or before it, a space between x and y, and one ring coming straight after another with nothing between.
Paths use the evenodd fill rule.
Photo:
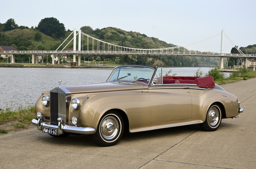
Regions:
<instances>
[{"instance_id":1,"label":"entire gold classic convertible with red interior and plate AM-65-62","mask_svg":"<svg viewBox=\"0 0 256 169\"><path fill-rule=\"evenodd\" d=\"M42 92L32 124L54 137L91 134L100 146L115 145L123 131L140 132L199 124L215 131L222 119L243 112L236 96L212 76L162 76L161 67L116 67L105 83L58 86Z\"/></svg>"}]
</instances>

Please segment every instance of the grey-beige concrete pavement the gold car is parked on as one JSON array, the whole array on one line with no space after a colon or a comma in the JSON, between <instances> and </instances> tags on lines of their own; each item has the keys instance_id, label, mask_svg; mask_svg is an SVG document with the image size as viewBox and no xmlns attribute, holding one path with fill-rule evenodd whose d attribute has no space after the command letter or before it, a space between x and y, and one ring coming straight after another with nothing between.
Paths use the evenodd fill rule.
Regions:
<instances>
[{"instance_id":1,"label":"grey-beige concrete pavement the gold car is parked on","mask_svg":"<svg viewBox=\"0 0 256 169\"><path fill-rule=\"evenodd\" d=\"M215 132L198 125L124 133L112 147L89 136L54 138L36 127L0 134L0 168L256 168L256 78L222 85L244 112Z\"/></svg>"}]
</instances>

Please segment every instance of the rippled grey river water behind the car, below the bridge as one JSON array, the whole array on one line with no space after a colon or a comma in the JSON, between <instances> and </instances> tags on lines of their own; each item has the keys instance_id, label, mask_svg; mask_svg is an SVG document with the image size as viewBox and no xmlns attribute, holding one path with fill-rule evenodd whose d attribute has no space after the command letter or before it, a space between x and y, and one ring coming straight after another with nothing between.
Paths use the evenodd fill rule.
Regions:
<instances>
[{"instance_id":1,"label":"rippled grey river water behind the car, below the bridge","mask_svg":"<svg viewBox=\"0 0 256 169\"><path fill-rule=\"evenodd\" d=\"M74 86L104 83L113 69L101 68L5 68L0 67L0 108L16 108L19 105L35 104L42 91L58 86ZM164 67L163 75L172 70L170 75L194 76L198 67ZM208 72L209 67L202 67Z\"/></svg>"}]
</instances>

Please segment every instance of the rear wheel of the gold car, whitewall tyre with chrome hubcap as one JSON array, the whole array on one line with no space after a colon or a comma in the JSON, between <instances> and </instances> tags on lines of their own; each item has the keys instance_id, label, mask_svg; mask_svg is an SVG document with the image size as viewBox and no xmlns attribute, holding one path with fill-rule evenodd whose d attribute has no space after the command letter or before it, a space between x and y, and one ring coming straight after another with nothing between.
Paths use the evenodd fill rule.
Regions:
<instances>
[{"instance_id":1,"label":"rear wheel of the gold car, whitewall tyre with chrome hubcap","mask_svg":"<svg viewBox=\"0 0 256 169\"><path fill-rule=\"evenodd\" d=\"M219 128L222 120L222 113L218 104L212 104L207 112L204 123L199 124L204 131L215 131Z\"/></svg>"}]
</instances>

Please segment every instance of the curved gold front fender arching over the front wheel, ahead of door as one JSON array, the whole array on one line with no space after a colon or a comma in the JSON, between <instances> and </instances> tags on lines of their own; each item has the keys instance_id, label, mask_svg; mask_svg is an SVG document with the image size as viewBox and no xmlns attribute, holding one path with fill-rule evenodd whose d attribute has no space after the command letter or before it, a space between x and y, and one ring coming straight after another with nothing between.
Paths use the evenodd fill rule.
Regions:
<instances>
[{"instance_id":1,"label":"curved gold front fender arching over the front wheel, ahead of door","mask_svg":"<svg viewBox=\"0 0 256 169\"><path fill-rule=\"evenodd\" d=\"M100 118L109 110L118 109L126 114L132 128L149 126L151 102L148 92L105 92L91 94L80 109L80 119L84 127L97 129ZM130 123L129 123L130 124Z\"/></svg>"}]
</instances>

